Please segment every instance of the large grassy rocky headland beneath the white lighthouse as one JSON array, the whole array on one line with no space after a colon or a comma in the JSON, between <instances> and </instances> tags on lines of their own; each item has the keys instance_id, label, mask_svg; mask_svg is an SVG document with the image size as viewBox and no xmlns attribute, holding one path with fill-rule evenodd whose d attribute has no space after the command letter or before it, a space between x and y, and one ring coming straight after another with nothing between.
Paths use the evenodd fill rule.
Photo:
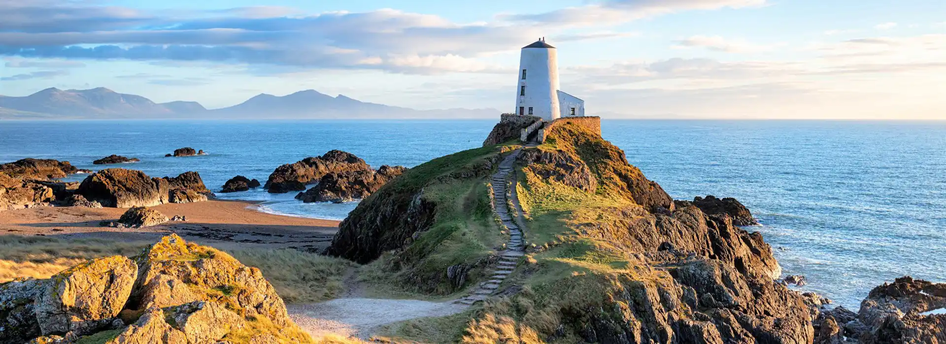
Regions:
<instances>
[{"instance_id":1,"label":"large grassy rocky headland beneath the white lighthouse","mask_svg":"<svg viewBox=\"0 0 946 344\"><path fill-rule=\"evenodd\" d=\"M521 126L510 125L494 129L492 141ZM481 295L467 298L487 302L459 339L465 343L937 343L946 336L946 315L921 313L943 306L946 285L904 278L872 291L858 313L832 308L780 283L771 247L739 227L756 224L745 206L712 196L673 200L581 123L555 123L535 147L492 143L431 160L378 189L342 221L327 253L382 260L373 264L394 276L388 282L410 290ZM512 180L491 179L511 154ZM494 220L494 183L509 183L492 189L510 190L501 197L515 224ZM520 242L510 229L522 233L520 253L507 246Z\"/></svg>"}]
</instances>

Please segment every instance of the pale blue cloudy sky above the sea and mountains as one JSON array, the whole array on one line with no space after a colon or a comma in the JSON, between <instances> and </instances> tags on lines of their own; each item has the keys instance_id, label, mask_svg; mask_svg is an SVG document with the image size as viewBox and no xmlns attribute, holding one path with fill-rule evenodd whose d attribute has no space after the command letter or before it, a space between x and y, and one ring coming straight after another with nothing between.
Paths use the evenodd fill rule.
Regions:
<instances>
[{"instance_id":1,"label":"pale blue cloudy sky above the sea and mountains","mask_svg":"<svg viewBox=\"0 0 946 344\"><path fill-rule=\"evenodd\" d=\"M539 37L587 115L946 120L942 0L0 0L0 94L513 112Z\"/></svg>"}]
</instances>

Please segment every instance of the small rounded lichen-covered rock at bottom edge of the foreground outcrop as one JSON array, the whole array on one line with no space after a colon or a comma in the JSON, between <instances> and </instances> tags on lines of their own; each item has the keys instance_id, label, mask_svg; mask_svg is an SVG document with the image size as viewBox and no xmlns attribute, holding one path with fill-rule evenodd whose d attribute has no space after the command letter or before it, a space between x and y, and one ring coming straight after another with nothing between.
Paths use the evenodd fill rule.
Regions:
<instances>
[{"instance_id":1,"label":"small rounded lichen-covered rock at bottom edge of the foreground outcrop","mask_svg":"<svg viewBox=\"0 0 946 344\"><path fill-rule=\"evenodd\" d=\"M193 344L214 344L246 324L236 313L218 303L197 301L173 307L173 327L184 332Z\"/></svg>"}]
</instances>

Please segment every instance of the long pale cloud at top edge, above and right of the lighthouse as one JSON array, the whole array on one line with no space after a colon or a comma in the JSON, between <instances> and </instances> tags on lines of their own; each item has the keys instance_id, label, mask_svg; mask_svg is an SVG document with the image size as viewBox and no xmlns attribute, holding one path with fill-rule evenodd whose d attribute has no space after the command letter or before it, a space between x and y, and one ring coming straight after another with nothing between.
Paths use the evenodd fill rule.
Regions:
<instances>
[{"instance_id":1,"label":"long pale cloud at top edge, above and right of the lighthouse","mask_svg":"<svg viewBox=\"0 0 946 344\"><path fill-rule=\"evenodd\" d=\"M765 0L608 0L575 8L539 14L506 15L513 21L556 25L603 25L694 9L749 8L765 5Z\"/></svg>"}]
</instances>

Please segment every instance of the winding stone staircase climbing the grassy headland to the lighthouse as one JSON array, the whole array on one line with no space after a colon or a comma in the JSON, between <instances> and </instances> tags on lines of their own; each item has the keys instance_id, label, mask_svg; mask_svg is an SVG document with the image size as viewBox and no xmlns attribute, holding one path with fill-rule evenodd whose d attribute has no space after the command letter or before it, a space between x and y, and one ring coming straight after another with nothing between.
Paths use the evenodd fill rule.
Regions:
<instances>
[{"instance_id":1,"label":"winding stone staircase climbing the grassy headland to the lighthouse","mask_svg":"<svg viewBox=\"0 0 946 344\"><path fill-rule=\"evenodd\" d=\"M499 215L499 220L502 221L502 226L509 230L509 242L506 243L506 250L499 254L499 262L493 269L492 277L490 277L489 281L482 282L470 295L458 300L457 303L473 304L478 301L486 300L487 297L499 289L499 284L501 284L510 273L513 273L513 270L516 270L519 257L525 254L523 250L522 230L516 224L516 221L513 221L512 215L510 215L509 204L506 202L508 194L506 184L509 181L510 175L515 172L516 158L519 156L519 153L521 153L521 150L516 150L513 154L502 159L499 163L499 172L493 174L491 183L493 185L493 207L497 215Z\"/></svg>"}]
</instances>

